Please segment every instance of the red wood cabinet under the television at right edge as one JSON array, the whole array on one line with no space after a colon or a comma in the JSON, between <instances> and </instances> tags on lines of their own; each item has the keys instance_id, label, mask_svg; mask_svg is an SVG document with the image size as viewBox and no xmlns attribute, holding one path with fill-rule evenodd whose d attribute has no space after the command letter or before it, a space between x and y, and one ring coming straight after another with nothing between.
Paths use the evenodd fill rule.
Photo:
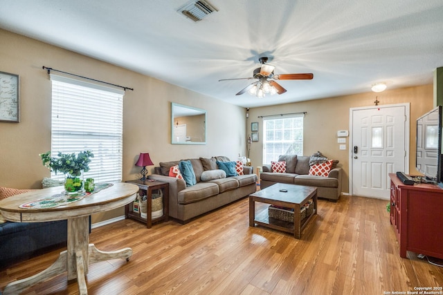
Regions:
<instances>
[{"instance_id":1,"label":"red wood cabinet under the television at right edge","mask_svg":"<svg viewBox=\"0 0 443 295\"><path fill-rule=\"evenodd\" d=\"M405 185L390 177L390 223L400 256L406 251L443 259L443 189L434 184Z\"/></svg>"}]
</instances>

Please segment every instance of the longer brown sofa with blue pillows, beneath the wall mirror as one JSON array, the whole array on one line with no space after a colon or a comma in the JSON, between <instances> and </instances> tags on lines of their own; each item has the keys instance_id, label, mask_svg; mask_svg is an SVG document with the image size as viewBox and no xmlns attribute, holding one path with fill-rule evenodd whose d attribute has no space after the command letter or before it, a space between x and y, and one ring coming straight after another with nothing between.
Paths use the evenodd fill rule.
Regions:
<instances>
[{"instance_id":1,"label":"longer brown sofa with blue pillows, beneath the wall mirror","mask_svg":"<svg viewBox=\"0 0 443 295\"><path fill-rule=\"evenodd\" d=\"M217 209L256 191L257 175L253 174L253 167L243 166L244 175L221 177L202 181L201 176L213 173L218 174L219 167L216 160L229 162L226 157L188 159L192 163L197 184L186 187L183 179L169 176L171 166L180 161L161 162L154 168L154 174L149 178L169 183L169 215L183 223L188 222L203 213ZM206 172L211 171L211 172Z\"/></svg>"}]
</instances>

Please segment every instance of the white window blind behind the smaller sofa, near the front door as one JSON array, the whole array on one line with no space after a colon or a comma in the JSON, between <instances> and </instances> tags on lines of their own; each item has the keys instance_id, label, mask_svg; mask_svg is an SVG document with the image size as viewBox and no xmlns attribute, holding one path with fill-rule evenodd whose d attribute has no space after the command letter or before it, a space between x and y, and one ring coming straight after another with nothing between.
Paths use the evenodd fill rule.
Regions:
<instances>
[{"instance_id":1,"label":"white window blind behind the smaller sofa, near the front door","mask_svg":"<svg viewBox=\"0 0 443 295\"><path fill-rule=\"evenodd\" d=\"M303 155L303 117L291 115L263 119L263 164L279 155Z\"/></svg>"}]
</instances>

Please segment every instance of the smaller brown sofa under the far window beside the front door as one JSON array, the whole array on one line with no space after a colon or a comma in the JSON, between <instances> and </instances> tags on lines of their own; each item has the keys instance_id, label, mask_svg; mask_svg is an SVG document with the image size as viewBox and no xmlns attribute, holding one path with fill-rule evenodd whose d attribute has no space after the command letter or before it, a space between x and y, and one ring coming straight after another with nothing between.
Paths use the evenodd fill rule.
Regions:
<instances>
[{"instance_id":1,"label":"smaller brown sofa under the far window beside the front door","mask_svg":"<svg viewBox=\"0 0 443 295\"><path fill-rule=\"evenodd\" d=\"M260 188L264 189L277 182L317 187L318 198L335 201L341 195L342 169L336 167L327 177L309 175L309 156L280 155L278 161L286 162L286 173L273 173L271 164L262 166Z\"/></svg>"}]
</instances>

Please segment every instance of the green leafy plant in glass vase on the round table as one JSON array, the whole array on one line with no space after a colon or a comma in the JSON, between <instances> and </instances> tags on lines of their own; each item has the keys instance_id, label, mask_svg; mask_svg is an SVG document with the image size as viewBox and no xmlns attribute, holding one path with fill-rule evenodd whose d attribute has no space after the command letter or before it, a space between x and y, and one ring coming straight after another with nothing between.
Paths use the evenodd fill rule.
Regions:
<instances>
[{"instance_id":1,"label":"green leafy plant in glass vase on the round table","mask_svg":"<svg viewBox=\"0 0 443 295\"><path fill-rule=\"evenodd\" d=\"M76 193L83 187L82 173L89 171L89 163L94 157L91 151L75 153L58 153L51 157L51 151L41 153L43 165L54 171L64 174L64 189L66 193Z\"/></svg>"}]
</instances>

